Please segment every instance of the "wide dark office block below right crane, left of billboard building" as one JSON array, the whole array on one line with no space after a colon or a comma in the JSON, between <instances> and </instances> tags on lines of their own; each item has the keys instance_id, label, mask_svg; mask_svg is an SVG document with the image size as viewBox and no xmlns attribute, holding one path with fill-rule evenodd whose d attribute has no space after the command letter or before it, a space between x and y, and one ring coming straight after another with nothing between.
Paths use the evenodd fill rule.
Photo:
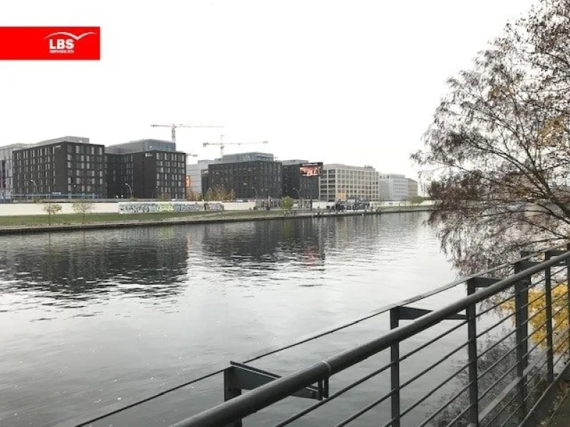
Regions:
<instances>
[{"instance_id":1,"label":"wide dark office block below right crane, left of billboard building","mask_svg":"<svg viewBox=\"0 0 570 427\"><path fill-rule=\"evenodd\" d=\"M218 160L208 165L207 174L202 174L202 180L207 180L203 190L216 187L233 189L236 199L281 199L282 167L273 154L228 154Z\"/></svg>"}]
</instances>

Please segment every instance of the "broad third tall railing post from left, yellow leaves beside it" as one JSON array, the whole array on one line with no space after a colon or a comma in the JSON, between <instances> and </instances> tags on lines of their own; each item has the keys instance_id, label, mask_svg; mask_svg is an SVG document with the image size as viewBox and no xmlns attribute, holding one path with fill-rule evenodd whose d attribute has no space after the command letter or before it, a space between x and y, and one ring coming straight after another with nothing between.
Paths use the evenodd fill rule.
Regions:
<instances>
[{"instance_id":1,"label":"broad third tall railing post from left, yellow leaves beside it","mask_svg":"<svg viewBox=\"0 0 570 427\"><path fill-rule=\"evenodd\" d=\"M514 273L523 270L521 263L514 264ZM527 416L527 384L524 382L524 369L527 368L529 357L529 290L531 279L521 280L514 284L514 323L517 337L517 376L519 384L517 386L517 406L519 407L519 422Z\"/></svg>"}]
</instances>

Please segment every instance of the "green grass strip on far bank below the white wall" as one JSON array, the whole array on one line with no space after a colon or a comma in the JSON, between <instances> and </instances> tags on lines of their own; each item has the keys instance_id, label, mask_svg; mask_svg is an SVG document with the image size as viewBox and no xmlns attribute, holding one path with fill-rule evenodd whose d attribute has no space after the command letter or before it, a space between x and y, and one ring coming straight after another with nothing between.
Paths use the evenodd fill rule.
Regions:
<instances>
[{"instance_id":1,"label":"green grass strip on far bank below the white wall","mask_svg":"<svg viewBox=\"0 0 570 427\"><path fill-rule=\"evenodd\" d=\"M200 212L165 212L161 214L56 214L51 216L51 225L128 222L128 221L168 221L173 219L207 219L207 218L236 218L242 216L283 216L284 211L200 211ZM47 214L0 216L0 227L14 226L47 226Z\"/></svg>"}]
</instances>

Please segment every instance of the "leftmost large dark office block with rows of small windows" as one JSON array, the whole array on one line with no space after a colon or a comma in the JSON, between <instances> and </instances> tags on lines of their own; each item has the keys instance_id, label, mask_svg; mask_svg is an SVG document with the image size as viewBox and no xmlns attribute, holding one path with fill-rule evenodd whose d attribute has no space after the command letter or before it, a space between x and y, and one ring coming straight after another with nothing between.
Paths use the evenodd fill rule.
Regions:
<instances>
[{"instance_id":1,"label":"leftmost large dark office block with rows of small windows","mask_svg":"<svg viewBox=\"0 0 570 427\"><path fill-rule=\"evenodd\" d=\"M48 139L15 149L12 195L105 198L104 149L83 137Z\"/></svg>"}]
</instances>

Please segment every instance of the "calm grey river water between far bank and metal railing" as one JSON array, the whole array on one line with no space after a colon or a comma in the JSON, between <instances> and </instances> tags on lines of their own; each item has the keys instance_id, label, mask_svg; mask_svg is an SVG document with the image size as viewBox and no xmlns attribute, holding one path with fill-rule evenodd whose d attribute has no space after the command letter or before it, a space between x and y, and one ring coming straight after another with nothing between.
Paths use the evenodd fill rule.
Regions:
<instances>
[{"instance_id":1,"label":"calm grey river water between far bank and metal railing","mask_svg":"<svg viewBox=\"0 0 570 427\"><path fill-rule=\"evenodd\" d=\"M87 416L441 285L426 217L4 237L0 425Z\"/></svg>"}]
</instances>

